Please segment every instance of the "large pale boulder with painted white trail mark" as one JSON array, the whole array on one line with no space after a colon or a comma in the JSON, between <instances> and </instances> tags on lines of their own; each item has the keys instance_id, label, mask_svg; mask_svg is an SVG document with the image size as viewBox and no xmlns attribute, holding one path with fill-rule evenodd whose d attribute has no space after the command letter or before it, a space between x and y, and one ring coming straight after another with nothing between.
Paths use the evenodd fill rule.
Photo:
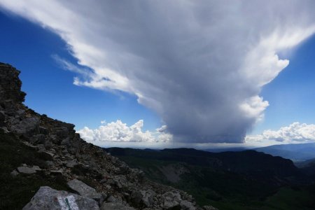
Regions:
<instances>
[{"instance_id":1,"label":"large pale boulder with painted white trail mark","mask_svg":"<svg viewBox=\"0 0 315 210\"><path fill-rule=\"evenodd\" d=\"M42 210L42 209L91 209L98 210L96 201L88 198L68 193L66 191L57 191L44 186L39 188L31 201L26 204L23 210Z\"/></svg>"}]
</instances>

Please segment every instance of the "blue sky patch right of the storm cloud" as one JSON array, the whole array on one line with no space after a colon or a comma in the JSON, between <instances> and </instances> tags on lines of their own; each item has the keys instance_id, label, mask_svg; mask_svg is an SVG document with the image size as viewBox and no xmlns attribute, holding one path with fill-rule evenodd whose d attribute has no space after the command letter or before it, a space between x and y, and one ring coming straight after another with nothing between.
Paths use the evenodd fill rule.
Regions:
<instances>
[{"instance_id":1,"label":"blue sky patch right of the storm cloud","mask_svg":"<svg viewBox=\"0 0 315 210\"><path fill-rule=\"evenodd\" d=\"M290 64L272 83L262 89L262 97L269 102L265 120L255 127L278 130L293 122L315 123L315 36L297 46L289 55Z\"/></svg>"}]
</instances>

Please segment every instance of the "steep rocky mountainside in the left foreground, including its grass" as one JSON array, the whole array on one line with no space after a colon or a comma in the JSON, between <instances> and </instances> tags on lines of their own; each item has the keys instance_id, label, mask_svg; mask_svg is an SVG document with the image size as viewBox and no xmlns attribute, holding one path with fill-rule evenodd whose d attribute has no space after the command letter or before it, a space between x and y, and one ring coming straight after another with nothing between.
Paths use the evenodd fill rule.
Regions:
<instances>
[{"instance_id":1,"label":"steep rocky mountainside in the left foreground, including its grass","mask_svg":"<svg viewBox=\"0 0 315 210\"><path fill-rule=\"evenodd\" d=\"M0 209L214 209L29 109L19 73L0 63Z\"/></svg>"}]
</instances>

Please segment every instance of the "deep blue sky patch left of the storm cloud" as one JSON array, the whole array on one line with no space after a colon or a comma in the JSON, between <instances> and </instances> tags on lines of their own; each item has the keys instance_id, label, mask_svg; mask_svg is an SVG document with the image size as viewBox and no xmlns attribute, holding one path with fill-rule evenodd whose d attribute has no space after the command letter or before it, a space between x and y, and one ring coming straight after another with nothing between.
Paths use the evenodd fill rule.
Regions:
<instances>
[{"instance_id":1,"label":"deep blue sky patch left of the storm cloud","mask_svg":"<svg viewBox=\"0 0 315 210\"><path fill-rule=\"evenodd\" d=\"M66 43L51 31L15 15L0 13L1 62L20 69L25 104L38 113L76 125L96 128L102 120L133 125L144 120L144 130L161 126L160 118L137 103L132 94L111 93L73 85L74 73L60 66L53 55L69 61Z\"/></svg>"}]
</instances>

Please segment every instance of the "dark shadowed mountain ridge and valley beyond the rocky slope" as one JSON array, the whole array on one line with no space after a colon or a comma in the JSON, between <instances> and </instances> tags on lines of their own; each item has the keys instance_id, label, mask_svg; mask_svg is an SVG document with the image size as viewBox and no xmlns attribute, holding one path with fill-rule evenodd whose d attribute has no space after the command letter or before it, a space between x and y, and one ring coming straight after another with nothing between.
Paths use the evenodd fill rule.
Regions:
<instances>
[{"instance_id":1,"label":"dark shadowed mountain ridge and valley beyond the rocky slope","mask_svg":"<svg viewBox=\"0 0 315 210\"><path fill-rule=\"evenodd\" d=\"M293 162L257 151L104 148L156 182L218 209L314 209L311 179ZM295 197L295 199L292 199Z\"/></svg>"}]
</instances>

